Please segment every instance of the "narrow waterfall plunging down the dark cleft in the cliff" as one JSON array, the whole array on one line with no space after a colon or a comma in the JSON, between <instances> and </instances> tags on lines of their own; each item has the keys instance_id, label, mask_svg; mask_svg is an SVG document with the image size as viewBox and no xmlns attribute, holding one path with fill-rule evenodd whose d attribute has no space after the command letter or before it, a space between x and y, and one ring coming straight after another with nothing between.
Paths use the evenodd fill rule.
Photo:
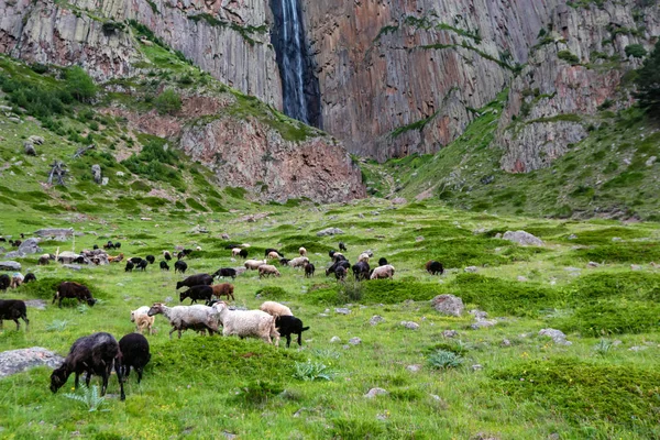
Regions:
<instances>
[{"instance_id":1,"label":"narrow waterfall plunging down the dark cleft in the cliff","mask_svg":"<svg viewBox=\"0 0 660 440\"><path fill-rule=\"evenodd\" d=\"M271 0L271 8L275 16L272 41L282 78L284 113L320 127L319 81L305 40L300 0Z\"/></svg>"}]
</instances>

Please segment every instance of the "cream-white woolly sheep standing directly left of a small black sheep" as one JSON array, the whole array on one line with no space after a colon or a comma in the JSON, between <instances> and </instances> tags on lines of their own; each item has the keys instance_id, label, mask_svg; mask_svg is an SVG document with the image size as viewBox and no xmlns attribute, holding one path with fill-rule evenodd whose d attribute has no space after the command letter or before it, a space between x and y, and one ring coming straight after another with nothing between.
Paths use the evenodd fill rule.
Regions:
<instances>
[{"instance_id":1,"label":"cream-white woolly sheep standing directly left of a small black sheep","mask_svg":"<svg viewBox=\"0 0 660 440\"><path fill-rule=\"evenodd\" d=\"M275 329L275 317L262 310L230 310L226 302L216 302L212 307L218 320L222 323L222 336L235 334L241 339L246 337L261 338L267 343L279 346L279 333Z\"/></svg>"}]
</instances>

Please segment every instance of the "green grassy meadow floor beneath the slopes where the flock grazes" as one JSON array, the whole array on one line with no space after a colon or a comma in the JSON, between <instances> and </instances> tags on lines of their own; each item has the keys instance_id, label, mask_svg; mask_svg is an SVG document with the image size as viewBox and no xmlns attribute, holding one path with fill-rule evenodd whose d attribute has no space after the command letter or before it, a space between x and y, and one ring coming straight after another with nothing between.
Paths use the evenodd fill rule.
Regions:
<instances>
[{"instance_id":1,"label":"green grassy meadow floor beneath the slopes where the flock grazes","mask_svg":"<svg viewBox=\"0 0 660 440\"><path fill-rule=\"evenodd\" d=\"M268 212L245 221L244 216ZM144 216L144 215L143 215ZM260 217L260 216L255 216ZM28 235L44 227L72 226L75 240L43 242L45 252L90 249L120 241L127 256L154 254L145 273L123 264L72 271L36 256L21 260L37 283L0 294L44 299L29 308L30 331L4 321L0 351L43 346L65 355L79 337L108 331L118 340L133 331L130 310L154 301L178 304L175 283L161 272L163 250L202 250L187 258L188 273L235 267L224 250L250 243L250 256L278 248L286 256L307 248L317 267L282 267L280 278L237 277L235 305L257 308L266 299L288 305L311 329L302 349L261 340L187 331L168 338L156 317L147 336L152 361L143 381L133 373L120 402L111 377L97 411L52 394L51 371L37 367L0 380L0 437L10 439L650 439L660 437L660 228L497 217L454 211L433 204L393 206L382 199L343 206L254 206L220 213L173 215L166 210L130 216L108 210L90 216L4 209L0 231ZM191 232L197 227L208 233ZM317 237L328 227L343 235ZM495 238L524 229L546 245L524 248ZM324 276L328 250L346 243L355 262L372 250L396 267L394 280L339 283ZM114 251L118 253L119 251ZM112 252L111 252L112 254ZM447 267L424 271L427 260ZM587 267L590 261L597 267ZM640 265L631 270L631 265ZM476 266L476 273L464 267ZM51 306L59 280L90 286L101 299L92 308ZM230 280L231 282L231 280ZM462 317L447 317L429 304L453 294L465 302ZM189 300L186 300L188 304ZM349 308L349 315L336 308ZM472 309L493 327L472 329ZM373 316L384 321L370 324ZM419 324L410 330L402 321ZM23 326L22 326L23 327ZM570 345L538 336L546 328L566 333ZM443 334L455 330L453 338ZM338 337L340 342L331 342ZM360 338L361 343L349 343ZM285 342L283 340L283 342ZM408 369L418 365L414 372ZM475 366L479 365L479 366ZM92 384L100 385L98 377ZM373 387L387 394L364 395ZM237 436L237 437L232 437Z\"/></svg>"}]
</instances>

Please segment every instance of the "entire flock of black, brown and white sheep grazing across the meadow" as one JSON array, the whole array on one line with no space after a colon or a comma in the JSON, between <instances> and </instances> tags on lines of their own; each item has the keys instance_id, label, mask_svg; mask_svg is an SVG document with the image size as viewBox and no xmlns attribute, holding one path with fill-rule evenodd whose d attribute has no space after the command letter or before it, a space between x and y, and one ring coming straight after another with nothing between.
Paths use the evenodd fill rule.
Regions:
<instances>
[{"instance_id":1,"label":"entire flock of black, brown and white sheep grazing across the meadow","mask_svg":"<svg viewBox=\"0 0 660 440\"><path fill-rule=\"evenodd\" d=\"M121 243L109 241L103 244L103 248L119 249L121 248ZM280 276L279 270L272 264L273 262L276 262L279 266L302 268L306 277L314 277L315 275L316 267L309 261L305 248L300 248L298 250L299 255L290 260L285 258L283 253L273 248L265 250L264 260L248 260L249 248L249 244L232 244L227 246L227 249L231 250L232 257L245 258L243 263L244 271L257 271L260 279ZM345 244L342 242L339 243L339 249L342 252L348 251ZM95 245L95 251L97 250L98 246ZM197 250L200 249L197 248ZM175 254L164 251L164 260L160 262L160 268L162 271L169 271L168 262L173 260L173 255L176 255L177 261L174 264L175 273L185 274L188 265L184 258L191 255L193 252L190 249L184 249ZM381 257L377 266L372 268L370 266L370 258L373 257L371 251L361 253L358 262L353 265L350 264L349 260L341 252L330 251L328 255L331 262L326 270L326 276L333 274L339 282L345 280L349 271L352 271L355 280L359 282L366 279L392 279L395 274L394 266L384 257ZM42 264L42 258L52 260L52 256L48 254L43 255L40 258L40 264ZM119 263L121 261L123 261L123 254L108 256L108 262L110 263ZM131 257L127 260L124 271L145 271L150 264L155 264L155 256L146 255L144 258ZM426 264L426 271L429 274L437 275L443 273L443 267L439 262L429 261ZM153 334L156 315L162 315L169 322L172 327L169 331L170 339L175 331L180 339L182 333L186 330L194 330L202 334L208 332L209 336L212 336L219 332L220 327L222 327L222 336L224 337L238 336L241 339L258 338L267 343L274 343L275 346L279 345L279 339L284 337L287 341L286 346L289 348L292 336L296 336L297 343L301 346L301 334L304 331L309 330L309 327L305 327L302 321L295 317L288 307L275 301L265 301L258 310L238 310L228 305L227 301L235 300L234 286L230 283L213 284L213 282L216 278L235 279L237 275L242 272L243 268L237 271L235 268L223 267L212 275L196 274L177 282L176 292L186 288L180 292L179 301L183 302L185 299L190 299L190 305L169 307L163 302L154 302L151 307L142 306L135 310L131 310L130 319L135 324L135 333L124 336L119 342L106 332L97 332L79 338L72 345L62 366L56 369L51 375L51 391L56 393L57 389L66 384L70 374L75 374L75 386L77 387L80 374L85 373L87 384L89 384L92 374L101 376L101 395L103 395L108 386L111 370L114 366L120 384L121 399L123 400L125 398L123 382L130 374L131 367L136 371L138 382L140 382L143 369L151 359L150 344L143 333ZM33 274L29 275L32 275L31 279L36 279ZM22 282L31 279L23 279L21 277L21 279L14 282L8 275L0 275L0 290L7 290L8 287L18 287ZM55 304L57 300L58 307L62 307L64 299L76 299L89 307L92 307L97 302L87 286L74 282L61 283L53 296L52 304ZM197 301L204 301L204 305L196 304ZM25 322L25 329L28 330L30 321L26 315L25 302L16 299L0 300L0 328L2 328L2 320L13 320L16 323L16 330L19 330L19 319Z\"/></svg>"}]
</instances>

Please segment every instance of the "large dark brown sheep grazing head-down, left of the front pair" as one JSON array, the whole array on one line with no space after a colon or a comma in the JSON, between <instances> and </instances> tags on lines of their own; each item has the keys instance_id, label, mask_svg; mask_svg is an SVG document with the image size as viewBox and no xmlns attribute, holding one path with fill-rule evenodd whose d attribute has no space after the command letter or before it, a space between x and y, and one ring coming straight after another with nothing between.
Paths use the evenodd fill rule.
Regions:
<instances>
[{"instance_id":1,"label":"large dark brown sheep grazing head-down, left of the front pair","mask_svg":"<svg viewBox=\"0 0 660 440\"><path fill-rule=\"evenodd\" d=\"M124 394L123 381L121 378L120 355L119 343L110 333L100 332L77 339L62 366L51 374L51 391L57 393L57 389L66 384L72 373L76 374L75 387L77 388L80 374L87 373L87 386L89 386L92 374L102 377L101 396L103 396L108 388L108 378L112 371L112 364L114 364L119 389L121 391L121 399L125 400L127 395Z\"/></svg>"}]
</instances>

